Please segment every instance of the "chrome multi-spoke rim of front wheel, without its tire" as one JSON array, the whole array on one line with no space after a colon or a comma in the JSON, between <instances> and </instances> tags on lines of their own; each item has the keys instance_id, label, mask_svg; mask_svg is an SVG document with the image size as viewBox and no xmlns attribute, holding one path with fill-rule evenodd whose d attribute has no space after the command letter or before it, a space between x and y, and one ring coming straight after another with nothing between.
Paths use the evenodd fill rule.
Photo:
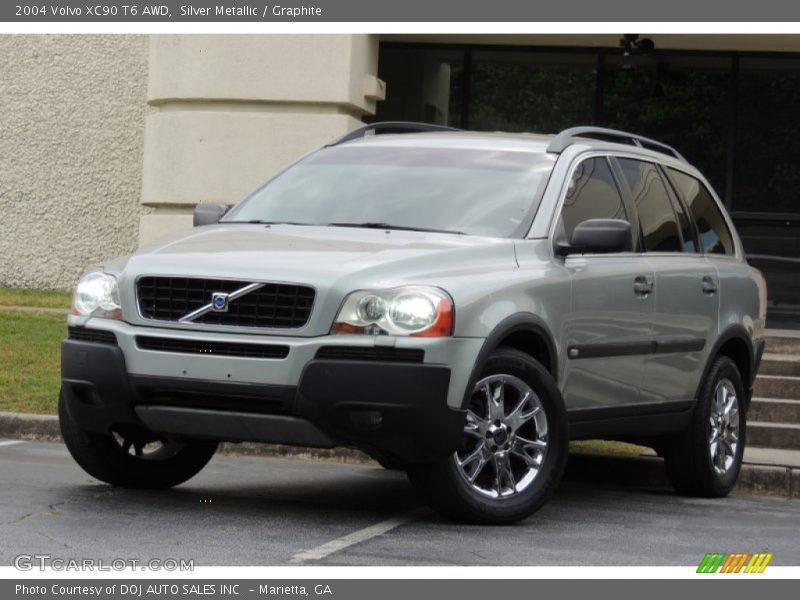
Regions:
<instances>
[{"instance_id":1,"label":"chrome multi-spoke rim of front wheel, without its tire","mask_svg":"<svg viewBox=\"0 0 800 600\"><path fill-rule=\"evenodd\" d=\"M461 448L453 455L471 488L507 498L528 488L547 456L547 418L533 389L512 375L490 375L472 392Z\"/></svg>"}]
</instances>

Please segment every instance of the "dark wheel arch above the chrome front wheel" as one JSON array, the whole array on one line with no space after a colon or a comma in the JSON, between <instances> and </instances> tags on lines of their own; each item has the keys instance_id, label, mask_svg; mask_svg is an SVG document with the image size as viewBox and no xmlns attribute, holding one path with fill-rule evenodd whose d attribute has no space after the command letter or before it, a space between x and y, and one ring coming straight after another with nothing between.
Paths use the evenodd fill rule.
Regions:
<instances>
[{"instance_id":1,"label":"dark wheel arch above the chrome front wheel","mask_svg":"<svg viewBox=\"0 0 800 600\"><path fill-rule=\"evenodd\" d=\"M472 388L478 381L489 355L503 347L514 348L532 356L542 364L554 380L558 381L557 346L547 324L533 313L517 313L500 321L486 337L472 367L462 407L469 402Z\"/></svg>"}]
</instances>

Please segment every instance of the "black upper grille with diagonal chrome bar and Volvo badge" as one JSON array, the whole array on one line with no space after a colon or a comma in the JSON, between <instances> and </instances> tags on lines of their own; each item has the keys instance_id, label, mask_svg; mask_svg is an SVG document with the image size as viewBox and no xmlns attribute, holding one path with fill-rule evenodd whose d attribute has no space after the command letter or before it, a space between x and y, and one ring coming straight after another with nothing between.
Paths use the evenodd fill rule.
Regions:
<instances>
[{"instance_id":1,"label":"black upper grille with diagonal chrome bar and Volvo badge","mask_svg":"<svg viewBox=\"0 0 800 600\"><path fill-rule=\"evenodd\" d=\"M254 289L235 297L236 292ZM260 287L257 287L260 286ZM227 310L211 310L213 294L234 294ZM145 319L179 321L195 311L208 309L189 319L203 325L295 329L311 316L314 288L287 283L258 283L191 277L141 277L136 283L139 312Z\"/></svg>"}]
</instances>

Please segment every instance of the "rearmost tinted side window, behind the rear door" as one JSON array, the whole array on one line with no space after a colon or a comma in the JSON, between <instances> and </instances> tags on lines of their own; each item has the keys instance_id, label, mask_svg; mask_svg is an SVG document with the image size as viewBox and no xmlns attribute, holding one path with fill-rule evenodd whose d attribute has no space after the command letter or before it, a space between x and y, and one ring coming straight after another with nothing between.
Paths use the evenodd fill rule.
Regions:
<instances>
[{"instance_id":1,"label":"rearmost tinted side window, behind the rear door","mask_svg":"<svg viewBox=\"0 0 800 600\"><path fill-rule=\"evenodd\" d=\"M669 170L692 213L706 254L734 254L733 237L719 206L703 183L690 175Z\"/></svg>"}]
</instances>

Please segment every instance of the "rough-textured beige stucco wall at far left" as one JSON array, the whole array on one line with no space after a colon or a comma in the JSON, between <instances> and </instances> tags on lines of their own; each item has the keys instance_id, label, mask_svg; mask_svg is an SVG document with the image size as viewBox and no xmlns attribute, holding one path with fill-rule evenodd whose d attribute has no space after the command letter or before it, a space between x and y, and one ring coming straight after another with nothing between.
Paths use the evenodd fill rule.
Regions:
<instances>
[{"instance_id":1,"label":"rough-textured beige stucco wall at far left","mask_svg":"<svg viewBox=\"0 0 800 600\"><path fill-rule=\"evenodd\" d=\"M70 288L138 241L144 36L0 36L0 285Z\"/></svg>"}]
</instances>

